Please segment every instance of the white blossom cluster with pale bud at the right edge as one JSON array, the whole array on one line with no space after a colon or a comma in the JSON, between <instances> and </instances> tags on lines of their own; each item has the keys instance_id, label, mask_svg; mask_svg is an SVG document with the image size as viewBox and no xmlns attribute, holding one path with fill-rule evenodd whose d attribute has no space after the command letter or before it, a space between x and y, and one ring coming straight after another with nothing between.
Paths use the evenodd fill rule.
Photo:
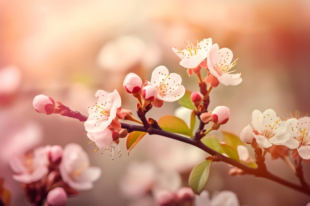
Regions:
<instances>
[{"instance_id":1,"label":"white blossom cluster with pale bud at the right edge","mask_svg":"<svg viewBox=\"0 0 310 206\"><path fill-rule=\"evenodd\" d=\"M310 160L310 117L283 121L272 109L263 113L254 110L252 125L253 128L248 124L241 131L240 138L243 142L257 143L266 152L270 152L272 158L277 158L275 150L281 148L283 151L284 146L285 154L293 150L293 158Z\"/></svg>"}]
</instances>

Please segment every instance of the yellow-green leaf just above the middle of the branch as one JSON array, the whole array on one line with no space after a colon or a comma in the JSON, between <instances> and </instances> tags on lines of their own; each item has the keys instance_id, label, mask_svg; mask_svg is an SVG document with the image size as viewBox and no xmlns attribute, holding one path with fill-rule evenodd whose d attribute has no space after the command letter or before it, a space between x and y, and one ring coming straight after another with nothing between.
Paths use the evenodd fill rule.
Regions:
<instances>
[{"instance_id":1,"label":"yellow-green leaf just above the middle of the branch","mask_svg":"<svg viewBox=\"0 0 310 206\"><path fill-rule=\"evenodd\" d=\"M191 129L188 128L187 124L183 120L175 116L163 116L157 121L157 123L165 131L184 134L190 137L193 136L193 133Z\"/></svg>"}]
</instances>

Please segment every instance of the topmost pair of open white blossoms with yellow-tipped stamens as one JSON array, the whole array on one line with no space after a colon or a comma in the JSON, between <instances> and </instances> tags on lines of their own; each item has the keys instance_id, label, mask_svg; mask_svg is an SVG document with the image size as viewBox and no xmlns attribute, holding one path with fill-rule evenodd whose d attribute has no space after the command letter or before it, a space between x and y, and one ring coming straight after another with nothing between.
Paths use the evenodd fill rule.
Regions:
<instances>
[{"instance_id":1,"label":"topmost pair of open white blossoms with yellow-tipped stamens","mask_svg":"<svg viewBox=\"0 0 310 206\"><path fill-rule=\"evenodd\" d=\"M212 39L204 39L197 43L188 42L186 48L172 50L181 58L180 65L187 68L187 74L193 73L200 78L201 68L208 71L205 82L216 87L219 83L224 85L238 85L242 82L241 73L232 74L231 70L237 59L233 60L233 52L229 48L219 48L217 43L212 44Z\"/></svg>"}]
</instances>

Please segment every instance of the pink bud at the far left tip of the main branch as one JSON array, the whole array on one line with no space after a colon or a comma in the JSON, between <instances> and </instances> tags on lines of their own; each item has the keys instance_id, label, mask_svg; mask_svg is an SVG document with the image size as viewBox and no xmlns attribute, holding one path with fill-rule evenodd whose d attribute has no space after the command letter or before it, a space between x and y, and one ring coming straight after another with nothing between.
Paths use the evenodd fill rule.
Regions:
<instances>
[{"instance_id":1,"label":"pink bud at the far left tip of the main branch","mask_svg":"<svg viewBox=\"0 0 310 206\"><path fill-rule=\"evenodd\" d=\"M32 104L35 110L39 113L51 115L55 111L55 101L44 94L35 96Z\"/></svg>"}]
</instances>

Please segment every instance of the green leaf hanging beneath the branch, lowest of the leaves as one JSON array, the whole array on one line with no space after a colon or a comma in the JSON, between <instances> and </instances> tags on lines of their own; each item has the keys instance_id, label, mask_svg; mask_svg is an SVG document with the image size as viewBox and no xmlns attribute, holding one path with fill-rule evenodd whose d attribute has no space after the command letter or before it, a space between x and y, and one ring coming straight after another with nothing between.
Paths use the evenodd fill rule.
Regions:
<instances>
[{"instance_id":1,"label":"green leaf hanging beneath the branch, lowest of the leaves","mask_svg":"<svg viewBox=\"0 0 310 206\"><path fill-rule=\"evenodd\" d=\"M211 160L206 160L205 162L196 165L191 171L188 183L197 195L204 190L207 184L211 162Z\"/></svg>"}]
</instances>

